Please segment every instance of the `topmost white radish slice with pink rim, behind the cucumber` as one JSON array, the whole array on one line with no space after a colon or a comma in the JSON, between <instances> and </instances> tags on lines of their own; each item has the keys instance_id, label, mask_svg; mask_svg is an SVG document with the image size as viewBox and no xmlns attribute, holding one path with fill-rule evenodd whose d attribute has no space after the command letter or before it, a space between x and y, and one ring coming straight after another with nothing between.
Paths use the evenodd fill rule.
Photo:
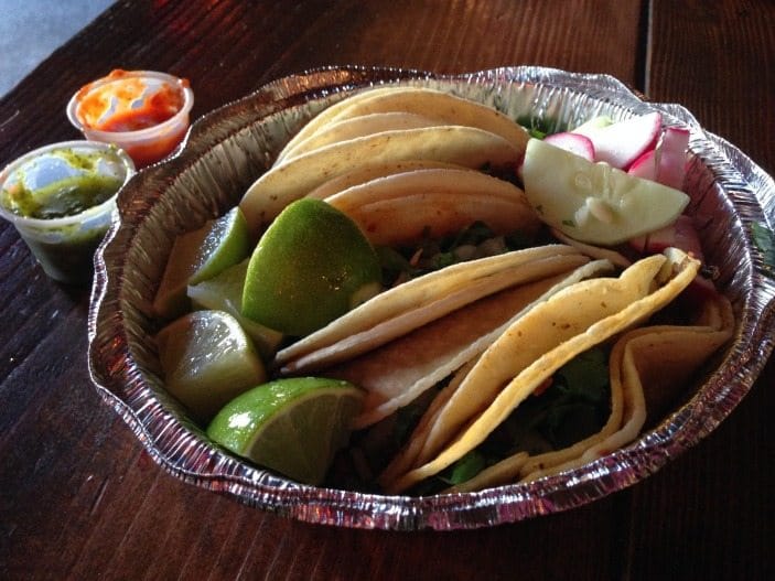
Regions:
<instances>
[{"instance_id":1,"label":"topmost white radish slice with pink rim, behind the cucumber","mask_svg":"<svg viewBox=\"0 0 775 581\"><path fill-rule=\"evenodd\" d=\"M584 130L584 135L592 140L595 161L626 170L646 150L653 148L660 129L661 115L654 111L601 128L591 127Z\"/></svg>"}]
</instances>

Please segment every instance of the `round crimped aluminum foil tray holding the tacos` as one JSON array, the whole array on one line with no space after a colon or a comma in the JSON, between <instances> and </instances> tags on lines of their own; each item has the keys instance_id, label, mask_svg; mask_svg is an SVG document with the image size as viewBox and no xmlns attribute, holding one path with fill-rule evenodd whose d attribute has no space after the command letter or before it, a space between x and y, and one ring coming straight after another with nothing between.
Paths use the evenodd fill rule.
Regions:
<instances>
[{"instance_id":1,"label":"round crimped aluminum foil tray holding the tacos","mask_svg":"<svg viewBox=\"0 0 775 581\"><path fill-rule=\"evenodd\" d=\"M700 233L719 267L738 329L731 346L691 396L631 445L578 470L478 493L380 496L300 485L212 444L165 392L151 336L151 302L174 236L234 206L284 142L317 111L353 89L423 85L483 101L513 118L577 123L659 110L690 130L688 192L708 216ZM193 485L291 518L342 527L459 529L573 508L631 486L708 435L751 389L773 349L773 265L754 232L775 229L775 183L744 153L703 130L683 107L648 103L606 75L532 66L464 75L357 66L280 78L198 119L172 159L136 175L96 256L89 311L89 369L98 392L151 456Z\"/></svg>"}]
</instances>

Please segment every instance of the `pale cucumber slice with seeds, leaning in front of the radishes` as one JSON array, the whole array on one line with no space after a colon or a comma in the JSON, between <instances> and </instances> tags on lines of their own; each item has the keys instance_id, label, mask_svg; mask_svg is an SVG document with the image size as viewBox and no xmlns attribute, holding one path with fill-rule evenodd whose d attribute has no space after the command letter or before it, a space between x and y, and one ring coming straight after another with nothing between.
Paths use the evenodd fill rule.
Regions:
<instances>
[{"instance_id":1,"label":"pale cucumber slice with seeds, leaning in front of the radishes","mask_svg":"<svg viewBox=\"0 0 775 581\"><path fill-rule=\"evenodd\" d=\"M615 245L657 230L689 202L679 190L538 139L528 142L521 175L525 194L546 224L591 244Z\"/></svg>"}]
</instances>

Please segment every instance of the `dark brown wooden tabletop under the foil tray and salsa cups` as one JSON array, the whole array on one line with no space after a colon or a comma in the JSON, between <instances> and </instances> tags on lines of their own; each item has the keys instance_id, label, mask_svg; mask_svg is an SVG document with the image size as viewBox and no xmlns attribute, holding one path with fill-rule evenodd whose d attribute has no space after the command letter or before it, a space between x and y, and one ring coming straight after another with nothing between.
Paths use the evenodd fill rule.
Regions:
<instances>
[{"instance_id":1,"label":"dark brown wooden tabletop under the foil tray and salsa cups","mask_svg":"<svg viewBox=\"0 0 775 581\"><path fill-rule=\"evenodd\" d=\"M775 171L765 0L125 0L0 100L0 164L78 138L67 99L115 67L187 77L200 116L329 64L609 73ZM775 578L772 361L715 432L632 488L489 529L362 531L162 472L89 383L88 292L46 279L6 223L0 297L0 579Z\"/></svg>"}]
</instances>

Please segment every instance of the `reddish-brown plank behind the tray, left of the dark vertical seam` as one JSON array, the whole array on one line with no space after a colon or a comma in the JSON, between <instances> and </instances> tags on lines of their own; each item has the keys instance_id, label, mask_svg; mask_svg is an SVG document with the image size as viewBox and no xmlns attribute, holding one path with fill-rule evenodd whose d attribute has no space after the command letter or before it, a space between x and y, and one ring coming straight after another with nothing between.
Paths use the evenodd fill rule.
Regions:
<instances>
[{"instance_id":1,"label":"reddish-brown plank behind the tray, left of the dark vertical seam","mask_svg":"<svg viewBox=\"0 0 775 581\"><path fill-rule=\"evenodd\" d=\"M263 78L333 63L437 73L541 65L636 84L639 10L612 0L340 1Z\"/></svg>"}]
</instances>

